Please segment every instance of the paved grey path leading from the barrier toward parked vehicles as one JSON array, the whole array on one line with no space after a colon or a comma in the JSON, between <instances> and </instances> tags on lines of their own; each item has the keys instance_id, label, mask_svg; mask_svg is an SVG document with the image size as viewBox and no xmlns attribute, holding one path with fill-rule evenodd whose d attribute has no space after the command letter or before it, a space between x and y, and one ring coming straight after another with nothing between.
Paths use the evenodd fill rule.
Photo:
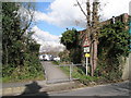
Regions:
<instances>
[{"instance_id":1,"label":"paved grey path leading from the barrier toward parked vehicles","mask_svg":"<svg viewBox=\"0 0 131 98\"><path fill-rule=\"evenodd\" d=\"M69 76L51 62L43 61L41 64L46 71L47 83L69 81Z\"/></svg>"}]
</instances>

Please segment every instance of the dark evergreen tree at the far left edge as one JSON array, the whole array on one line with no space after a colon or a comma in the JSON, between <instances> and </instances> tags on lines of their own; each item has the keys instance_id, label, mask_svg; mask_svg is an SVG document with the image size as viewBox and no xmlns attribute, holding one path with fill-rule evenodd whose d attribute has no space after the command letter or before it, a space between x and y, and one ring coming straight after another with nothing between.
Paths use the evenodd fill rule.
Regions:
<instances>
[{"instance_id":1,"label":"dark evergreen tree at the far left edge","mask_svg":"<svg viewBox=\"0 0 131 98\"><path fill-rule=\"evenodd\" d=\"M10 9L9 9L10 8ZM20 30L20 20L15 17L16 13L14 11L17 11L19 8L16 7L16 3L2 3L2 62L3 64L9 63L9 59L12 58L10 56L11 47L13 46L13 42L17 39L19 30ZM12 30L11 30L12 29Z\"/></svg>"}]
</instances>

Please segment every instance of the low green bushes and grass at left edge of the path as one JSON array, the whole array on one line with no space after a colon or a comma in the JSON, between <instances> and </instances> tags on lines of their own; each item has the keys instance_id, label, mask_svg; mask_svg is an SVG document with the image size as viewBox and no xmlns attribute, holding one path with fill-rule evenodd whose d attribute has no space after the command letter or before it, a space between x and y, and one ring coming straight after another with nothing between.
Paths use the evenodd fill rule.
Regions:
<instances>
[{"instance_id":1,"label":"low green bushes and grass at left edge of the path","mask_svg":"<svg viewBox=\"0 0 131 98\"><path fill-rule=\"evenodd\" d=\"M2 68L3 82L17 82L26 79L44 79L44 70L37 56L26 54L24 65Z\"/></svg>"}]
</instances>

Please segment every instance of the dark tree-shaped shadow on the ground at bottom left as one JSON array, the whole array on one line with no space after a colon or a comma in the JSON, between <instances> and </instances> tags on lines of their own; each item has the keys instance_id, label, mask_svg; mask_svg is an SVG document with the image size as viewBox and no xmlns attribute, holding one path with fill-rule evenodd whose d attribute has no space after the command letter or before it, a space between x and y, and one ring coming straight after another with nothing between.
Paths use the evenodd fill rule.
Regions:
<instances>
[{"instance_id":1,"label":"dark tree-shaped shadow on the ground at bottom left","mask_svg":"<svg viewBox=\"0 0 131 98\"><path fill-rule=\"evenodd\" d=\"M37 82L33 82L31 84L25 85L25 90L19 96L2 96L2 98L17 98L17 97L33 97L33 96L45 96L48 98L47 91L39 91L41 86L37 84Z\"/></svg>"}]
</instances>

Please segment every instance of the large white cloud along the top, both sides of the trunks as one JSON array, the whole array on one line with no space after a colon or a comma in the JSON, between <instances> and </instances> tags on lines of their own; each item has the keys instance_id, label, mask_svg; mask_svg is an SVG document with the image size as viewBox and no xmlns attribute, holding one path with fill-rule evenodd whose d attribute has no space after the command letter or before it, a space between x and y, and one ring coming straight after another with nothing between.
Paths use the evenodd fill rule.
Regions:
<instances>
[{"instance_id":1,"label":"large white cloud along the top, both sides of the trunks","mask_svg":"<svg viewBox=\"0 0 131 98\"><path fill-rule=\"evenodd\" d=\"M85 1L79 0L85 10ZM93 0L92 0L93 1ZM110 19L112 15L117 16L122 13L129 13L129 1L130 0L99 0L102 2L103 11L100 11L102 19ZM36 21L45 21L49 24L57 26L76 26L85 27L86 21L85 16L81 12L80 8L76 5L75 0L55 0L49 9L51 12L35 13ZM104 4L106 4L104 7Z\"/></svg>"}]
</instances>

